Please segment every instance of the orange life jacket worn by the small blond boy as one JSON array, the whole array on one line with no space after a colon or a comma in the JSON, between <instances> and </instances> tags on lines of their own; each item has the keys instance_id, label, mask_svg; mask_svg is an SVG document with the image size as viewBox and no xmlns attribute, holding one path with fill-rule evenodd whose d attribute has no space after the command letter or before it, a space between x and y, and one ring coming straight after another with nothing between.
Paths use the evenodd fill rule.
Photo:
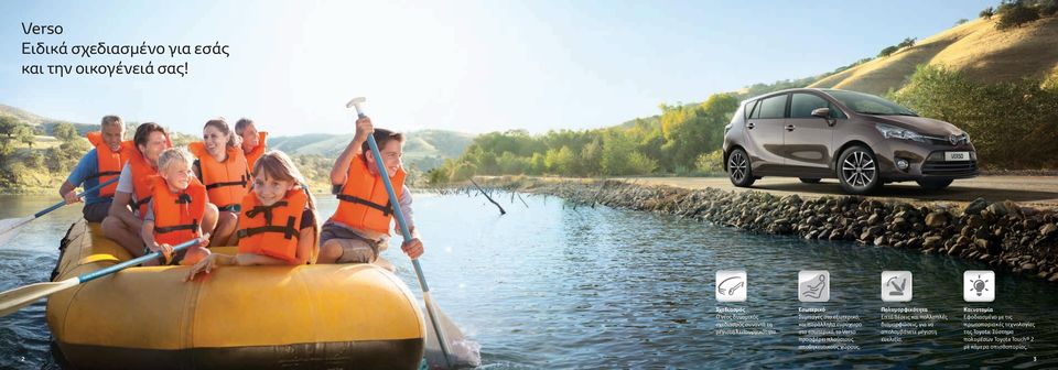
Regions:
<instances>
[{"instance_id":1,"label":"orange life jacket worn by the small blond boy","mask_svg":"<svg viewBox=\"0 0 1058 370\"><path fill-rule=\"evenodd\" d=\"M162 176L151 177L154 199L154 241L175 246L197 238L206 211L206 187L191 178L187 188L172 193Z\"/></svg>"}]
</instances>

